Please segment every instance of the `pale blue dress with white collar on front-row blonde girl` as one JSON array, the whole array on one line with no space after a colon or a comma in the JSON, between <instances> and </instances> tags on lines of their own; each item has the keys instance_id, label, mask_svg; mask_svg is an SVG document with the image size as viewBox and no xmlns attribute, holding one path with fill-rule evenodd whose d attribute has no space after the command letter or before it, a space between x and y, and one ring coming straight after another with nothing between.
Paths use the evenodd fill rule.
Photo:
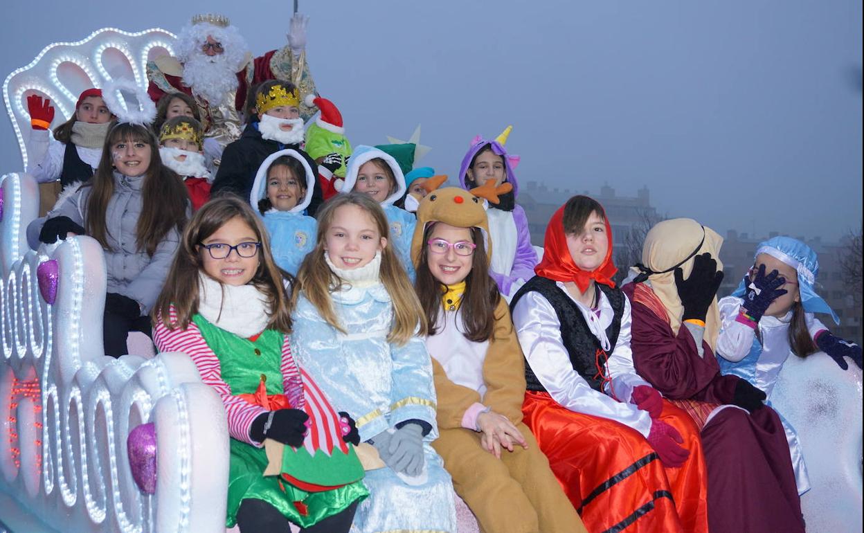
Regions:
<instances>
[{"instance_id":1,"label":"pale blue dress with white collar on front-row blonde girl","mask_svg":"<svg viewBox=\"0 0 864 533\"><path fill-rule=\"evenodd\" d=\"M370 496L359 505L354 528L455 533L453 485L430 446L438 436L432 362L421 337L403 346L388 342L393 305L378 280L380 260L378 252L371 263L347 271L350 285L330 293L346 333L322 319L305 294L300 296L291 351L333 404L356 419L361 441L409 420L432 428L423 439L420 476L407 478L389 466L366 472Z\"/></svg>"}]
</instances>

